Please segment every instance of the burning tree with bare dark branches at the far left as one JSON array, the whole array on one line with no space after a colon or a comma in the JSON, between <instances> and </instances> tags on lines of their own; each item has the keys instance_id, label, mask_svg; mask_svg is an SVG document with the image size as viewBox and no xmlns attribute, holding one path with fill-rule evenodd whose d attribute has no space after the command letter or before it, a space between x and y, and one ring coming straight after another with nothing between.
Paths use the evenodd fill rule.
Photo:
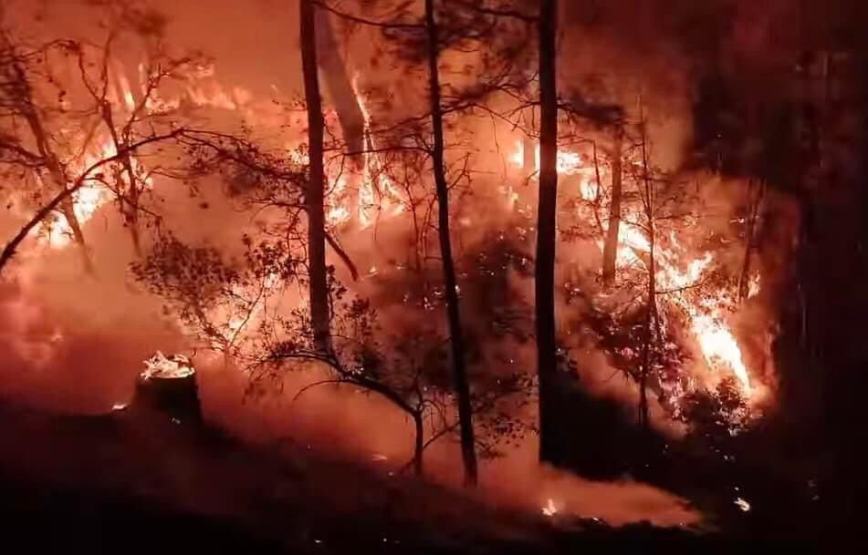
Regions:
<instances>
[{"instance_id":1,"label":"burning tree with bare dark branches at the far left","mask_svg":"<svg viewBox=\"0 0 868 555\"><path fill-rule=\"evenodd\" d=\"M171 57L158 35L146 36L152 44L148 63L141 68L141 82L131 85L112 51L117 36L130 32L129 25L111 18L108 37L99 46L60 39L29 46L3 32L0 70L6 78L0 96L6 129L0 149L16 185L9 207L36 204L36 212L25 216L21 231L6 244L0 268L32 231L40 231L56 247L71 236L92 272L82 222L109 200L116 201L136 252L141 215L159 221L142 197L152 187L153 172L171 169L146 169L138 157L144 150L165 155L165 143L178 146L181 138L193 137L183 127L187 118L178 104L159 91L165 92L167 81L186 78L202 59Z\"/></svg>"}]
</instances>

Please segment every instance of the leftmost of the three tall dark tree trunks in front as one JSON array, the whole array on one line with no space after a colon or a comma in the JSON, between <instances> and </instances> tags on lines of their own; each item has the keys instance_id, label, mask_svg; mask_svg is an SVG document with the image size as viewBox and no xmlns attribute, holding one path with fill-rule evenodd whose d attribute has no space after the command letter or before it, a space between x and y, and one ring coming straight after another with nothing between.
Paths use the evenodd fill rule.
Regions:
<instances>
[{"instance_id":1,"label":"leftmost of the three tall dark tree trunks in front","mask_svg":"<svg viewBox=\"0 0 868 555\"><path fill-rule=\"evenodd\" d=\"M317 75L317 29L313 0L300 2L301 66L308 107L309 182L305 195L308 211L308 274L310 324L314 344L320 351L331 345L329 331L329 284L326 270L325 169L323 167L322 99Z\"/></svg>"}]
</instances>

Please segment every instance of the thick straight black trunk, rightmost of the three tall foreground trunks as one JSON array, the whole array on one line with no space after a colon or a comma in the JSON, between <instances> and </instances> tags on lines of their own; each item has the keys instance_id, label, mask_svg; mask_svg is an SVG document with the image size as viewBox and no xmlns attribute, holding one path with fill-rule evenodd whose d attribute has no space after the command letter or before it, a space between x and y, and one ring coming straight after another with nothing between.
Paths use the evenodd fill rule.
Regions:
<instances>
[{"instance_id":1,"label":"thick straight black trunk, rightmost of the three tall foreground trunks","mask_svg":"<svg viewBox=\"0 0 868 555\"><path fill-rule=\"evenodd\" d=\"M558 354L555 331L555 234L558 210L557 0L539 7L539 208L537 215L536 331L539 375L539 459L559 461Z\"/></svg>"}]
</instances>

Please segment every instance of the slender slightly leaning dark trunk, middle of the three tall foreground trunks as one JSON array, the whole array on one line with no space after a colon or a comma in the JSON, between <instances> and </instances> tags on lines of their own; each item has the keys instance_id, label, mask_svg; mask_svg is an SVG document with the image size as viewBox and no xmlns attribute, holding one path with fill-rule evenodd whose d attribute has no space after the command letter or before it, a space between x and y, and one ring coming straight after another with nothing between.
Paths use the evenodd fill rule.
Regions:
<instances>
[{"instance_id":1,"label":"slender slightly leaning dark trunk, middle of the three tall foreground trunks","mask_svg":"<svg viewBox=\"0 0 868 555\"><path fill-rule=\"evenodd\" d=\"M461 432L461 454L465 466L465 483L476 485L476 440L473 429L473 407L470 404L470 384L465 366L464 330L458 306L458 290L455 280L455 262L452 258L452 239L449 236L449 186L446 182L444 160L443 107L440 99L440 69L438 67L439 38L434 18L434 0L425 0L425 30L428 35L428 86L431 96L431 126L434 131L432 163L434 183L437 189L438 236L440 255L443 260L443 278L446 289L446 313L449 322L449 337L452 347L453 380L458 397L458 423Z\"/></svg>"}]
</instances>

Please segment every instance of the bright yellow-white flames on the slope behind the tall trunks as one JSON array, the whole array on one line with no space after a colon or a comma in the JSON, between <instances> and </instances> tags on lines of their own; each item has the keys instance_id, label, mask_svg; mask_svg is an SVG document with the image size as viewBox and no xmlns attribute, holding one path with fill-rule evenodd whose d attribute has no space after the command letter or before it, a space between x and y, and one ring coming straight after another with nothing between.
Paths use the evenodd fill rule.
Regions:
<instances>
[{"instance_id":1,"label":"bright yellow-white flames on the slope behind the tall trunks","mask_svg":"<svg viewBox=\"0 0 868 555\"><path fill-rule=\"evenodd\" d=\"M201 77L202 83L188 85L184 95L188 101L196 106L222 108L230 110L243 109L250 102L250 95L243 89L235 87L232 91L226 91L224 87L214 81L212 72L204 72ZM113 91L114 104L130 110L134 106L134 95L131 81L122 74L117 79L120 87ZM358 78L354 78L352 85L356 91L357 99L364 116L365 136L367 141L366 152L361 157L361 167L355 168L352 164L328 164L327 172L332 188L329 194L330 208L327 213L329 224L340 227L350 222L355 222L363 230L370 226L380 216L393 217L405 211L403 193L392 183L387 173L383 170L382 161L379 159L376 146L371 138L371 115L366 106L364 94L361 93ZM162 110L166 107L176 107L182 102L181 98L162 100L154 97L149 100L148 109ZM252 115L252 114L251 114ZM89 149L89 153L83 157L79 164L86 168L98 159L109 157L115 153L114 145L108 137L97 142L98 146ZM521 166L524 160L523 142L518 141L517 147L509 157L514 166ZM290 149L290 156L298 156L298 149ZM539 166L539 146L535 153L536 164ZM299 160L303 162L304 160ZM137 168L141 168L140 162L132 159ZM568 149L560 149L558 153L558 171L561 176L569 178L569 182L579 180L577 191L582 200L595 202L600 200L601 187L596 182L596 174L607 176L606 168L593 168L579 152ZM126 179L122 176L121 179ZM124 183L129 186L129 184ZM151 180L146 180L146 187L152 187ZM99 208L112 199L111 191L100 184L89 184L83 187L74 196L74 211L80 223L89 219ZM514 201L514 199L510 199ZM375 211L379 216L375 215ZM630 213L633 211L635 213ZM581 214L587 217L588 214ZM622 225L619 228L619 241L616 263L619 272L635 274L647 272L648 261L651 256L651 242L647 232L641 226L634 225L639 214L635 208L626 208L622 214ZM604 221L603 221L604 223ZM49 245L55 248L68 246L71 241L71 228L65 218L58 214L53 221L44 226L42 236L47 238ZM47 231L47 232L46 232ZM604 231L604 230L601 230ZM691 256L678 241L675 232L669 233L662 241L654 245L654 268L655 277L660 290L669 292L666 294L665 304L668 310L661 311L659 324L661 332L665 335L666 326L671 325L672 309L677 309L681 317L685 319L685 328L695 339L702 355L703 365L695 370L695 378L701 384L709 381L709 371L719 379L721 375L732 375L737 379L741 393L748 401L753 400L758 388L754 384L751 372L745 363L741 346L736 335L731 329L729 319L735 306L734 295L726 287L719 287L711 291L705 291L700 298L696 298L691 288L696 283L702 283L706 274L713 266L714 255L704 252L698 256ZM598 240L602 246L602 241ZM271 286L274 287L274 284ZM755 275L750 281L750 296L758 293L759 277ZM237 311L236 311L237 312ZM244 311L241 311L244 313ZM242 327L253 324L256 321L256 310L243 317L229 314L226 316L226 337L235 338L243 333ZM228 341L228 339L227 339ZM714 381L714 380L712 380ZM761 389L761 387L760 387ZM677 396L679 392L670 392Z\"/></svg>"}]
</instances>

